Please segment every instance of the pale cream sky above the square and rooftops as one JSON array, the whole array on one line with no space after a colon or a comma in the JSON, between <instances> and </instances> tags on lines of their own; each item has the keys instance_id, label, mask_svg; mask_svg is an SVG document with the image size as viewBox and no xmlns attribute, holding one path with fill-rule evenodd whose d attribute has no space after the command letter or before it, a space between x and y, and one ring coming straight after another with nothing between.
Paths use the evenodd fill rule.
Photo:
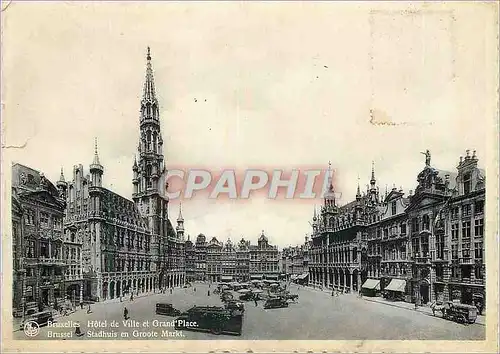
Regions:
<instances>
[{"instance_id":1,"label":"pale cream sky above the square and rooftops","mask_svg":"<svg viewBox=\"0 0 500 354\"><path fill-rule=\"evenodd\" d=\"M382 193L414 190L427 149L434 167L455 171L470 149L484 168L497 129L494 7L407 6L12 3L3 162L52 181L62 167L70 180L75 164L88 170L97 137L103 185L131 198L150 46L167 168L331 161L340 204L358 176L366 189L372 161ZM256 242L264 230L283 247L311 233L321 203L194 199L182 210L191 239Z\"/></svg>"}]
</instances>

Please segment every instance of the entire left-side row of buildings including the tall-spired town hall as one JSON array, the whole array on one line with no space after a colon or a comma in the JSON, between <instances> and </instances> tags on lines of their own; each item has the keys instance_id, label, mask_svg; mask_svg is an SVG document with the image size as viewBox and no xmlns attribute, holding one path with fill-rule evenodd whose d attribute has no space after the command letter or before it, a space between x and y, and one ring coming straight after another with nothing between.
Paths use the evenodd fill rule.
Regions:
<instances>
[{"instance_id":1,"label":"entire left-side row of buildings including the tall-spired town hall","mask_svg":"<svg viewBox=\"0 0 500 354\"><path fill-rule=\"evenodd\" d=\"M13 166L14 308L184 284L182 211L174 229L158 182L165 162L149 48L140 107L132 200L102 186L97 141L88 173L75 165L67 182L61 171L56 187L33 169Z\"/></svg>"}]
</instances>

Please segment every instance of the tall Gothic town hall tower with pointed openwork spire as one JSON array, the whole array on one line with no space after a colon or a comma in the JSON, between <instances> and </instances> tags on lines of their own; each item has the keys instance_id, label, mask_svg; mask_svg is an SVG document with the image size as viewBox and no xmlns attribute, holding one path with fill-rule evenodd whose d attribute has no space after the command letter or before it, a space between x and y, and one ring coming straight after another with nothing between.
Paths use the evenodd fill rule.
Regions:
<instances>
[{"instance_id":1,"label":"tall Gothic town hall tower with pointed openwork spire","mask_svg":"<svg viewBox=\"0 0 500 354\"><path fill-rule=\"evenodd\" d=\"M160 132L160 111L156 98L151 53L146 57L146 78L141 99L139 118L140 138L138 160L134 160L132 199L141 215L148 220L151 231L151 251L156 256L154 263L159 273L160 284L167 270L167 236L169 230L168 199L160 194L160 175L165 171L163 139Z\"/></svg>"}]
</instances>

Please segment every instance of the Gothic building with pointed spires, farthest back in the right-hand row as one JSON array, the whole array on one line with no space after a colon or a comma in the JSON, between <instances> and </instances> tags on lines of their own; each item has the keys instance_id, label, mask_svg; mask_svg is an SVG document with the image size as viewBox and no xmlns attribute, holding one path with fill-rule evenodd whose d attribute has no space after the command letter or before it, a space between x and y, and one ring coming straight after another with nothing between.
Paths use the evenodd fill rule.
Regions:
<instances>
[{"instance_id":1,"label":"Gothic building with pointed spires, farthest back in the right-hand row","mask_svg":"<svg viewBox=\"0 0 500 354\"><path fill-rule=\"evenodd\" d=\"M338 206L330 173L329 188L319 217L313 216L309 280L311 284L343 292L358 291L366 279L367 226L378 221L380 196L372 166L370 188L356 200Z\"/></svg>"}]
</instances>

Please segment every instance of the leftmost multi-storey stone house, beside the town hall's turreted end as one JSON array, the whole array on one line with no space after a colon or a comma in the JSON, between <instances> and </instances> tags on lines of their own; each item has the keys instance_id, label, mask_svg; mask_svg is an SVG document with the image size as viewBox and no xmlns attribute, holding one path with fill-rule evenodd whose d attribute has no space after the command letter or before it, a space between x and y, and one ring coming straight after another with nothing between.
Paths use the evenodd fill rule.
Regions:
<instances>
[{"instance_id":1,"label":"leftmost multi-storey stone house, beside the town hall's turreted end","mask_svg":"<svg viewBox=\"0 0 500 354\"><path fill-rule=\"evenodd\" d=\"M62 303L65 200L44 174L24 165L12 166L13 311L41 311ZM78 296L79 294L77 294Z\"/></svg>"}]
</instances>

